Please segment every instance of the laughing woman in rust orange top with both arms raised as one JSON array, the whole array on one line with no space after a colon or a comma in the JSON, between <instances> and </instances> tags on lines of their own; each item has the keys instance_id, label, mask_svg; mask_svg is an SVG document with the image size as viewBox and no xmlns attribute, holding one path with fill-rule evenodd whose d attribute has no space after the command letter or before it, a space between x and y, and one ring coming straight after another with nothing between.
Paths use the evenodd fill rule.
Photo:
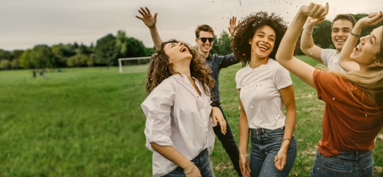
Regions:
<instances>
[{"instance_id":1,"label":"laughing woman in rust orange top with both arms raised","mask_svg":"<svg viewBox=\"0 0 383 177\"><path fill-rule=\"evenodd\" d=\"M276 60L318 93L325 102L323 135L310 176L372 176L372 148L383 126L383 27L362 37L363 27L377 25L383 13L370 13L359 20L340 53L340 66L349 71L317 70L293 57L297 41L308 17L321 18L324 7L311 3L302 6L276 53ZM294 43L293 43L294 44Z\"/></svg>"}]
</instances>

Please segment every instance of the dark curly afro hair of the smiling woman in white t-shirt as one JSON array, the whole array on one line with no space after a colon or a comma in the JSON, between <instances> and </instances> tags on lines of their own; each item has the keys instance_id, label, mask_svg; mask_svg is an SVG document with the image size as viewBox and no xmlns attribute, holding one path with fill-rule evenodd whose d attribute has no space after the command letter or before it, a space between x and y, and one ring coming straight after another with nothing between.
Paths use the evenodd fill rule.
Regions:
<instances>
[{"instance_id":1,"label":"dark curly afro hair of the smiling woman in white t-shirt","mask_svg":"<svg viewBox=\"0 0 383 177\"><path fill-rule=\"evenodd\" d=\"M274 29L276 33L274 50L271 51L269 55L269 58L276 60L276 51L278 51L279 44L281 44L281 40L288 29L287 22L275 13L269 15L267 12L260 11L244 18L243 21L238 24L238 27L234 29L234 35L231 38L231 49L234 51L235 58L240 58L243 67L250 63L251 45L248 44L248 41L253 39L257 29L265 25ZM297 41L294 53L297 53L298 48L299 41Z\"/></svg>"}]
</instances>

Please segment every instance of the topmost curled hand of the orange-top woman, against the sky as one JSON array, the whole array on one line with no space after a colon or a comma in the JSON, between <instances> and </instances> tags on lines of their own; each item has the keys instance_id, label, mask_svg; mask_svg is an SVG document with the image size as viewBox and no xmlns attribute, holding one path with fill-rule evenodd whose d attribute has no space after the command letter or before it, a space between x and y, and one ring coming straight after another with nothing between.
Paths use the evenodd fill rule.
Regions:
<instances>
[{"instance_id":1,"label":"topmost curled hand of the orange-top woman, against the sky","mask_svg":"<svg viewBox=\"0 0 383 177\"><path fill-rule=\"evenodd\" d=\"M310 3L309 6L302 6L298 14L304 18L323 18L328 14L328 3L324 7L320 4Z\"/></svg>"}]
</instances>

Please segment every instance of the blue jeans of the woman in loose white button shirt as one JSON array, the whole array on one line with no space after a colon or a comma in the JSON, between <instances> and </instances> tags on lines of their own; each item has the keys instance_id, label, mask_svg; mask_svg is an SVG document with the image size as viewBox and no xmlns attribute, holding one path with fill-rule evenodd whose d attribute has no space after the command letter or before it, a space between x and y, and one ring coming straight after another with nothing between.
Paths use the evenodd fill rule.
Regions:
<instances>
[{"instance_id":1,"label":"blue jeans of the woman in loose white button shirt","mask_svg":"<svg viewBox=\"0 0 383 177\"><path fill-rule=\"evenodd\" d=\"M191 162L194 162L194 165L199 169L199 171L201 171L201 175L203 177L214 177L213 167L210 164L208 149L205 149L202 152L200 152L196 158L191 160ZM179 176L185 176L184 169L182 169L180 166L178 166L175 170L166 175L166 177Z\"/></svg>"}]
</instances>

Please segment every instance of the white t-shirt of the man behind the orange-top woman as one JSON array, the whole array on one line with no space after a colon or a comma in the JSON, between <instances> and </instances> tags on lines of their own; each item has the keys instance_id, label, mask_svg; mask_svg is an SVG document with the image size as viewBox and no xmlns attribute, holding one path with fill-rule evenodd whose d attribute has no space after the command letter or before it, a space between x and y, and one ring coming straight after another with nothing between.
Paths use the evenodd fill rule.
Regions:
<instances>
[{"instance_id":1,"label":"white t-shirt of the man behind the orange-top woman","mask_svg":"<svg viewBox=\"0 0 383 177\"><path fill-rule=\"evenodd\" d=\"M332 71L344 72L346 73L342 67L338 64L340 53L337 53L337 50L325 48L322 49L321 59L323 64L328 67L328 69Z\"/></svg>"}]
</instances>

